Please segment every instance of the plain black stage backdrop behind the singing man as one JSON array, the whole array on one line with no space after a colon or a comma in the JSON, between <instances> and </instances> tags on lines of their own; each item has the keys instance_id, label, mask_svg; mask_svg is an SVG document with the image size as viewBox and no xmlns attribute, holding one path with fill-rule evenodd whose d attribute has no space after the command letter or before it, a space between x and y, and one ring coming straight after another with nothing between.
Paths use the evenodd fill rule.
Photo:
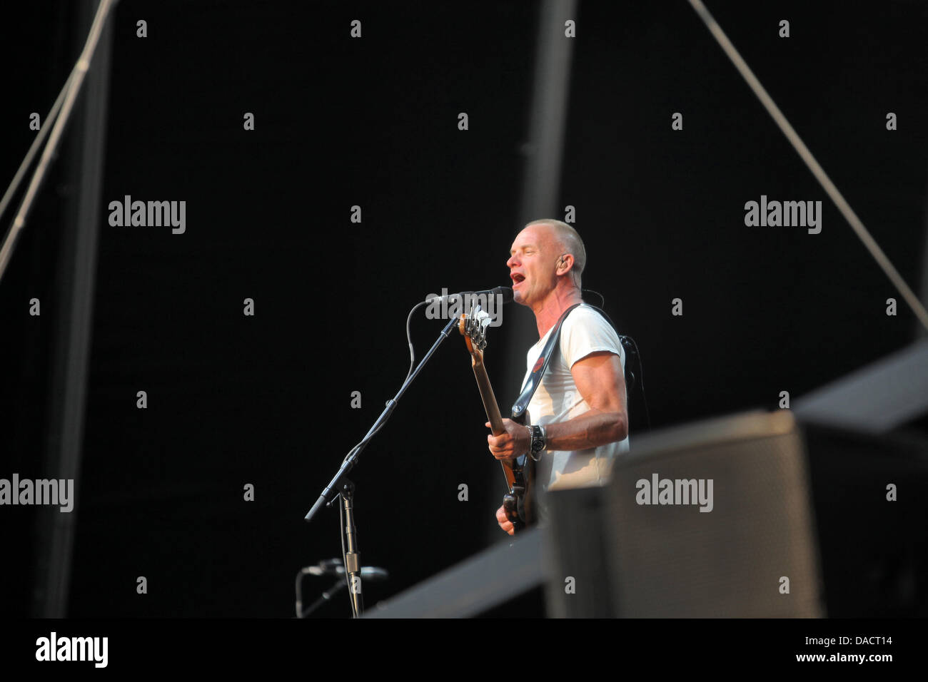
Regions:
<instances>
[{"instance_id":1,"label":"plain black stage backdrop behind the singing man","mask_svg":"<svg viewBox=\"0 0 928 682\"><path fill-rule=\"evenodd\" d=\"M119 6L70 615L289 616L299 567L339 554L337 512L311 525L303 514L406 375L409 307L443 287L508 283L537 9ZM710 9L917 287L924 6ZM559 205L586 239L584 285L638 341L653 426L773 408L780 391L794 399L911 341L914 315L688 4L581 2L574 19ZM77 55L74 20L40 3L3 29L3 178L34 135L29 112L45 112ZM58 167L0 283L0 476L41 476L56 329L28 300L53 290L69 227L58 206L73 191ZM127 194L186 200L186 234L107 224L106 205ZM746 227L744 202L762 194L822 200L821 234ZM414 321L419 355L440 327ZM506 309L487 353L501 405L522 373L509 358L533 334L531 315ZM366 585L368 605L505 538L469 365L446 341L355 471L363 560L393 573ZM0 509L12 612L28 606L30 511ZM308 595L328 586L315 580ZM319 614L347 615L346 601Z\"/></svg>"}]
</instances>

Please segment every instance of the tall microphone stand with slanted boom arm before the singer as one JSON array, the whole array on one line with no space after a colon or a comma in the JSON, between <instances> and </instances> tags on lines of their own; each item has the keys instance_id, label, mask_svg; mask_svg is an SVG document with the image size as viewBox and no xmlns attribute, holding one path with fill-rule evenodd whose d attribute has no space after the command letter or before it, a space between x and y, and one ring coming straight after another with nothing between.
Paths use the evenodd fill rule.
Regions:
<instances>
[{"instance_id":1,"label":"tall microphone stand with slanted boom arm before the singer","mask_svg":"<svg viewBox=\"0 0 928 682\"><path fill-rule=\"evenodd\" d=\"M448 338L451 334L451 330L458 327L459 317L456 316L448 320L448 324L445 325L445 328L442 329L442 333L438 335L438 339L432 343L432 348L429 349L429 352L419 361L419 365L412 371L412 373L406 377L406 381L403 382L403 385L400 387L399 392L393 396L392 400L387 401L387 406L384 408L383 412L380 413L380 417L374 422L374 425L370 427L370 431L367 431L367 435L364 439L354 446L352 451L348 453L348 456L342 461L342 467L338 472L332 477L332 480L329 481L329 485L326 486L325 490L322 491L322 494L319 495L319 498L316 500L316 504L313 505L313 508L309 510L309 513L306 514L305 521L312 521L313 517L316 516L316 512L323 505L326 507L331 507L335 500L338 497L342 497L344 502L344 511L348 514L348 519L346 525L348 528L348 552L346 554L346 565L345 573L348 576L349 587L351 587L351 598L352 598L352 611L354 611L354 617L360 617L361 611L364 609L364 605L361 600L361 561L360 554L357 548L357 532L354 529L354 511L353 511L353 502L354 502L354 484L351 483L348 479L345 478L345 475L354 469L354 465L358 463L358 456L361 452L364 451L364 448L367 447L367 444L370 442L370 439L383 428L383 425L387 423L387 419L393 414L393 410L396 409L396 405L399 403L400 398L403 397L403 394L406 392L406 389L416 380L416 377L419 376L419 371L422 367L425 367L425 364L429 362L432 358L432 354L438 350L438 346L442 344L442 341ZM338 490L339 492L335 492ZM335 493L333 495L333 493ZM343 533L344 529L340 529L340 533ZM348 564L351 565L348 565ZM354 587L356 586L356 590Z\"/></svg>"}]
</instances>

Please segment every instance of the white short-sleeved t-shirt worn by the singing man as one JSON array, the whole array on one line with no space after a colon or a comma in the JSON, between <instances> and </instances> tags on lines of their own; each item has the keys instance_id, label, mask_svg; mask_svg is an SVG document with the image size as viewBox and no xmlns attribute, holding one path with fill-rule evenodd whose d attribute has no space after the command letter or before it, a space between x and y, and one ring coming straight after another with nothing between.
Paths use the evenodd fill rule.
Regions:
<instances>
[{"instance_id":1,"label":"white short-sleeved t-shirt worn by the singing man","mask_svg":"<svg viewBox=\"0 0 928 682\"><path fill-rule=\"evenodd\" d=\"M541 354L554 328L529 349L528 371L522 380L525 387L532 367ZM571 367L591 353L609 351L617 354L625 371L625 350L612 325L586 304L574 308L561 326L560 351L551 355L541 385L528 405L532 424L544 425L567 421L586 412L590 406L577 391ZM625 396L627 403L627 395ZM609 479L612 458L628 450L628 437L618 443L609 443L586 450L546 450L538 462L535 481L542 491L556 488L573 488L584 485L602 485Z\"/></svg>"}]
</instances>

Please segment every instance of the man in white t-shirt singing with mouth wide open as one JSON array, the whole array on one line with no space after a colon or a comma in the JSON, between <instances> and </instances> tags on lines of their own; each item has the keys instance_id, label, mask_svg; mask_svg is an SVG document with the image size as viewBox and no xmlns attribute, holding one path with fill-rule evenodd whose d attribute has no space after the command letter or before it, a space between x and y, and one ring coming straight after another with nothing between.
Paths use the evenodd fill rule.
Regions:
<instances>
[{"instance_id":1,"label":"man in white t-shirt singing with mouth wide open","mask_svg":"<svg viewBox=\"0 0 928 682\"><path fill-rule=\"evenodd\" d=\"M507 266L513 300L535 313L540 337L528 351L528 380L561 314L583 300L586 249L570 225L538 220L512 242ZM626 401L622 343L602 315L580 305L561 325L558 348L529 403L533 426L503 419L506 432L487 436L490 452L496 459L529 453L542 491L605 483L612 458L628 450ZM504 508L496 521L514 533Z\"/></svg>"}]
</instances>

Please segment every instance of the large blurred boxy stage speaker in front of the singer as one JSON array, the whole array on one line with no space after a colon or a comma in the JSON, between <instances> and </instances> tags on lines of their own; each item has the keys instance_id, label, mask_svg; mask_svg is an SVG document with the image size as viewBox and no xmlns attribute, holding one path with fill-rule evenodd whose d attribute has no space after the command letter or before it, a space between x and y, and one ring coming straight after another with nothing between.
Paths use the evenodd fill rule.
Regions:
<instances>
[{"instance_id":1,"label":"large blurred boxy stage speaker in front of the singer","mask_svg":"<svg viewBox=\"0 0 928 682\"><path fill-rule=\"evenodd\" d=\"M549 492L554 617L820 617L802 433L788 410L632 438L612 481Z\"/></svg>"}]
</instances>

